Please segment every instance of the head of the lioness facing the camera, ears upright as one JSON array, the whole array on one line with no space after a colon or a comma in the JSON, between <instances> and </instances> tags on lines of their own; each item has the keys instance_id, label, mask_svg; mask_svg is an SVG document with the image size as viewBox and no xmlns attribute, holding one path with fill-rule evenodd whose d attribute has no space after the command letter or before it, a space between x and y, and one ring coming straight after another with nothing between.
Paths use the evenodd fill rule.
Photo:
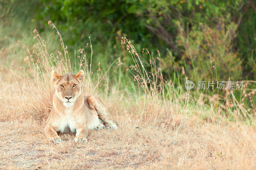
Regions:
<instances>
[{"instance_id":1,"label":"head of the lioness facing the camera, ears upright","mask_svg":"<svg viewBox=\"0 0 256 170\"><path fill-rule=\"evenodd\" d=\"M73 105L73 102L81 94L84 71L80 70L77 74L66 73L63 75L53 71L52 81L57 97L65 106L70 106Z\"/></svg>"}]
</instances>

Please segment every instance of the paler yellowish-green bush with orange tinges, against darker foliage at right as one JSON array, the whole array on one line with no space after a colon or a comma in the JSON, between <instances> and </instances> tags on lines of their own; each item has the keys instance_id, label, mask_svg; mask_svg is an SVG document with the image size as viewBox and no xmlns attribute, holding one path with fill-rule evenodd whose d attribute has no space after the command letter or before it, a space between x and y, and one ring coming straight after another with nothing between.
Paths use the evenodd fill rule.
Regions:
<instances>
[{"instance_id":1,"label":"paler yellowish-green bush with orange tinges, against darker foliage at right","mask_svg":"<svg viewBox=\"0 0 256 170\"><path fill-rule=\"evenodd\" d=\"M211 28L200 24L188 35L182 30L177 43L182 45L182 63L189 79L194 81L241 80L241 59L233 51L237 25L221 21Z\"/></svg>"}]
</instances>

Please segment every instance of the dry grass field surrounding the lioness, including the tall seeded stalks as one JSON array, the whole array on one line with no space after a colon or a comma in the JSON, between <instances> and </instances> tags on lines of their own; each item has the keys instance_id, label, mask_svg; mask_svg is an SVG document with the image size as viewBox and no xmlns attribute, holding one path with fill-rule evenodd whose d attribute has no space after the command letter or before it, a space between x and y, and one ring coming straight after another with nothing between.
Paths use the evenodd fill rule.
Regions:
<instances>
[{"instance_id":1,"label":"dry grass field surrounding the lioness, including the tall seeded stalks","mask_svg":"<svg viewBox=\"0 0 256 170\"><path fill-rule=\"evenodd\" d=\"M72 71L72 67L68 53L54 57L47 53L37 33L36 37L39 44L26 59L27 66L20 67L24 72L14 65L0 72L0 168L256 168L255 127L239 120L230 122L204 104L192 104L188 93L184 94L185 104L180 104L172 85L161 79L161 70L152 62L152 71L147 73L127 39L123 43L135 62L127 69L140 93L110 86L112 94L104 94L98 85L105 74L94 82L83 50L79 56L87 78L84 94L98 92L119 122L118 130L90 131L86 144L73 142L74 134L60 134L64 142L50 143L43 134L54 93L50 72L53 68ZM52 61L55 63L51 65Z\"/></svg>"}]
</instances>

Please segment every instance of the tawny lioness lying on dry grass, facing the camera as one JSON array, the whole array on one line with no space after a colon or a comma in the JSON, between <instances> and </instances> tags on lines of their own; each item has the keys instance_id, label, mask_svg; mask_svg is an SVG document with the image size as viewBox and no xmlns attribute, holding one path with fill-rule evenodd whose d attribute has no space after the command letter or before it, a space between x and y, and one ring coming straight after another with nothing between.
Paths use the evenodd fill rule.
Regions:
<instances>
[{"instance_id":1,"label":"tawny lioness lying on dry grass, facing the camera","mask_svg":"<svg viewBox=\"0 0 256 170\"><path fill-rule=\"evenodd\" d=\"M103 122L109 128L117 129L108 109L98 97L81 94L83 70L76 75L59 75L53 71L52 81L55 87L53 107L44 128L44 133L50 140L59 143L61 138L57 131L60 131L76 133L75 142L86 142L88 129L103 128Z\"/></svg>"}]
</instances>

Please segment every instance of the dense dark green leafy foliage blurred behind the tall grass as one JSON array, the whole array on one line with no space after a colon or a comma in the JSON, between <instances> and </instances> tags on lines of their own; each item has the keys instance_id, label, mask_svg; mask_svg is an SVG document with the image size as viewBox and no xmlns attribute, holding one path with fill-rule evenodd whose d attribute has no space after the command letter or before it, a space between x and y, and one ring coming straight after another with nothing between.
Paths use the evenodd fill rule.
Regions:
<instances>
[{"instance_id":1,"label":"dense dark green leafy foliage blurred behind the tall grass","mask_svg":"<svg viewBox=\"0 0 256 170\"><path fill-rule=\"evenodd\" d=\"M187 41L190 42L190 45L194 40L204 43L209 40L208 36L225 36L223 31L225 33L227 32L225 29L230 29L227 26L235 26L237 30L233 29L232 38L226 37L220 40L222 45L228 41L228 47L222 49L224 58L218 57L222 64L218 68L237 70L236 67L239 67L238 70L241 70L242 67L243 75L247 73L247 78L255 77L256 8L255 3L251 0L40 0L40 4L37 20L58 22L60 31L69 33L66 38L64 37L64 42L68 43L69 48L82 48L88 41L87 37L90 36L92 42L97 44L98 53L108 50L109 61L116 59L115 54L117 57L123 55L123 52L120 52L122 50L120 38L126 36L131 39L136 48L147 47L153 54L156 49L159 49L162 58L167 63L170 63L168 61L169 52L166 50L169 49L175 61L183 63L179 66L181 68L188 64L183 62L184 54L186 55L187 51ZM220 21L226 25L226 28L217 28ZM202 35L207 32L206 28L202 29L204 25L207 25L213 34ZM186 41L182 41L181 34L184 35L184 38L194 35L194 39L192 36L186 38ZM179 42L177 43L177 41ZM217 45L218 43L216 43ZM215 48L218 47L209 49L211 53L215 53ZM204 49L201 52L207 52L208 54L204 55L209 55L209 50ZM228 56L236 55L237 61L226 59L226 54ZM239 66L240 61L243 61L243 65ZM204 58L201 62L205 62L202 64L208 66L210 58ZM234 63L237 66L232 65ZM192 65L190 64L190 66ZM164 72L168 72L168 70L164 70ZM221 72L219 75L221 78L227 77L223 69L219 72ZM241 71L238 71L237 75L233 74L234 71L231 72L236 78L241 76Z\"/></svg>"}]
</instances>

